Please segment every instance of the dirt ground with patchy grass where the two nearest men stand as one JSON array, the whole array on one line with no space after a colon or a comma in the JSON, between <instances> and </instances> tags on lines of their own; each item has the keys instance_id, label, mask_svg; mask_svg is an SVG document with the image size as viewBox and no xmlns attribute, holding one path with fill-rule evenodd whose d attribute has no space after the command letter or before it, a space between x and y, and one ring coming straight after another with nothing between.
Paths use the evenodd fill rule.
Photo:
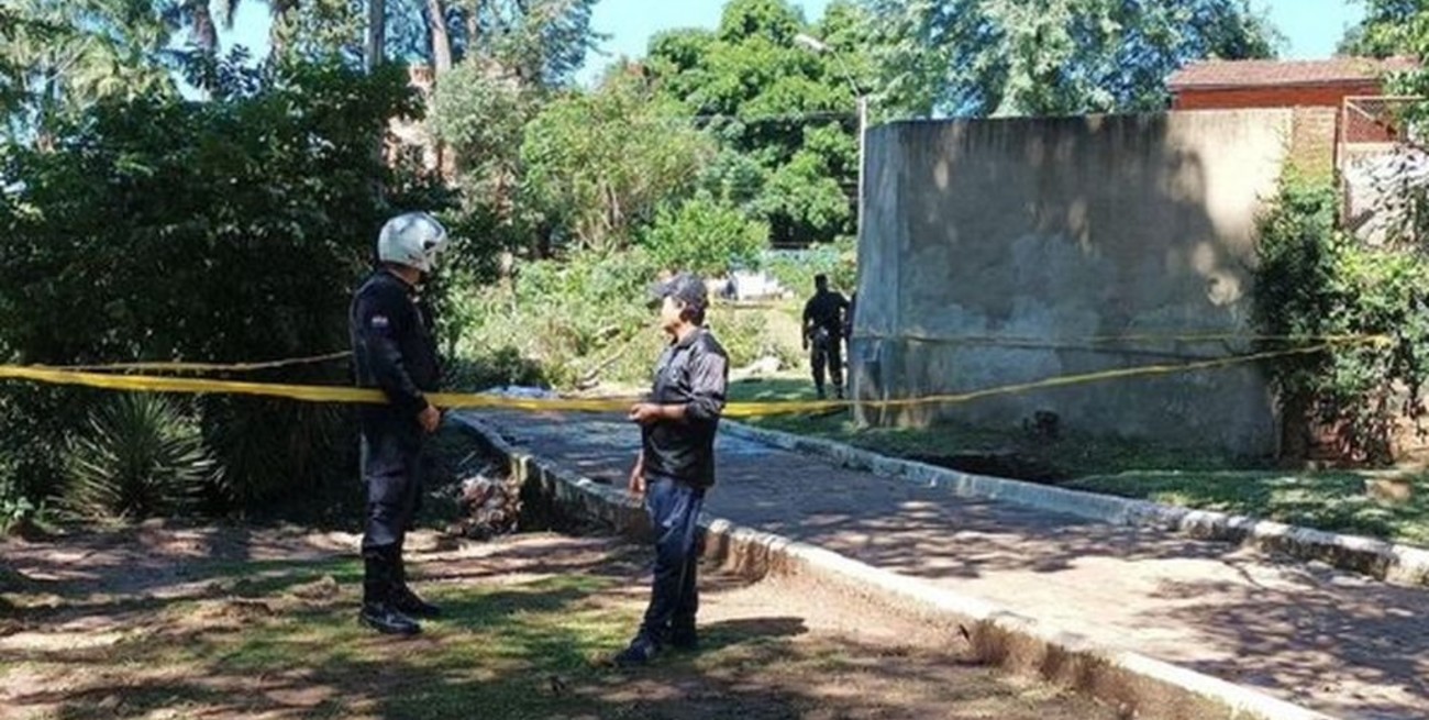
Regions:
<instances>
[{"instance_id":1,"label":"dirt ground with patchy grass where the two nearest men stand","mask_svg":"<svg viewBox=\"0 0 1429 720\"><path fill-rule=\"evenodd\" d=\"M0 544L0 719L1112 719L993 674L939 630L792 580L704 579L704 650L604 659L644 551L607 539L414 539L449 610L419 639L356 626L354 539L151 527Z\"/></svg>"}]
</instances>

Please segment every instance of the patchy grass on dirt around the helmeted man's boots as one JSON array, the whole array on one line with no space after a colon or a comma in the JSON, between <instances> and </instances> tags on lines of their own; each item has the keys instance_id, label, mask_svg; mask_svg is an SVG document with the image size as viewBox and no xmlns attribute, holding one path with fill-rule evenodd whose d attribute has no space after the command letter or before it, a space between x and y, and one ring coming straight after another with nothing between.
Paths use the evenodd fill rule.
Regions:
<instances>
[{"instance_id":1,"label":"patchy grass on dirt around the helmeted man's boots","mask_svg":"<svg viewBox=\"0 0 1429 720\"><path fill-rule=\"evenodd\" d=\"M214 707L276 713L284 709L273 686L282 691L283 684L330 694L304 703L304 717L463 717L476 709L490 719L550 717L590 709L589 700L553 694L550 677L572 681L602 673L599 656L620 647L637 623L633 610L583 603L612 579L557 574L430 586L444 617L429 621L419 639L402 641L360 627L350 597L292 597L324 577L352 589L360 571L347 559L211 563L199 576L223 599L150 604L146 627L83 657L56 649L4 661L41 671L83 661L90 681L44 716L56 719L146 717L156 710L181 717ZM120 604L116 599L114 609L133 614ZM237 621L224 623L229 614Z\"/></svg>"}]
</instances>

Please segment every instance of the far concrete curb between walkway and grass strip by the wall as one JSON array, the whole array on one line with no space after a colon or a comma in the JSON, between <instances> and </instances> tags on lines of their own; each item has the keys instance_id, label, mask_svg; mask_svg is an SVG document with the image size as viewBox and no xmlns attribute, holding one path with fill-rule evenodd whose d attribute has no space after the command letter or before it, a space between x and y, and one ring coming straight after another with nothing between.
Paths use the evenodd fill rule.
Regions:
<instances>
[{"instance_id":1,"label":"far concrete curb between walkway and grass strip by the wall","mask_svg":"<svg viewBox=\"0 0 1429 720\"><path fill-rule=\"evenodd\" d=\"M1285 553L1299 560L1319 560L1340 570L1368 574L1398 586L1429 586L1429 550L1362 536L1296 527L1270 520L1190 510L1126 497L1066 490L1062 487L977 476L913 460L900 460L833 440L803 437L725 421L723 431L783 450L825 457L853 470L897 477L927 487L943 487L962 497L1066 513L1103 523L1156 527L1185 533L1198 540L1249 544Z\"/></svg>"}]
</instances>

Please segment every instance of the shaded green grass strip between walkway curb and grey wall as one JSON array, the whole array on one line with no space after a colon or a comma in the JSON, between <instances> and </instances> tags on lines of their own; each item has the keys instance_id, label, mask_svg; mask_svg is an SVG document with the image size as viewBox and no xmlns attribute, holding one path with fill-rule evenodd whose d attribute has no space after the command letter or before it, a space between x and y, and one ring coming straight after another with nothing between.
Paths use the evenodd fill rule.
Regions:
<instances>
[{"instance_id":1,"label":"shaded green grass strip between walkway curb and grey wall","mask_svg":"<svg viewBox=\"0 0 1429 720\"><path fill-rule=\"evenodd\" d=\"M807 400L813 383L776 377L730 384L732 401ZM927 429L860 429L846 413L775 416L750 424L825 437L876 453L933 460L959 453L1012 453L1029 467L1055 470L1056 483L1095 493L1262 517L1320 530L1429 546L1429 479L1406 500L1380 500L1366 491L1376 473L1276 470L1260 459L1067 436L1033 439L953 424Z\"/></svg>"}]
</instances>

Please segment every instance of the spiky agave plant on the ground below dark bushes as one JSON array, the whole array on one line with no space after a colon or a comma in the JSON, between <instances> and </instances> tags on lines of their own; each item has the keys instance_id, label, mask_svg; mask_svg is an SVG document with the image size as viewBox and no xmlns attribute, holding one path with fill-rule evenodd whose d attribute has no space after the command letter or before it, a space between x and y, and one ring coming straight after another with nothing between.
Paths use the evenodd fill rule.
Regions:
<instances>
[{"instance_id":1,"label":"spiky agave plant on the ground below dark bushes","mask_svg":"<svg viewBox=\"0 0 1429 720\"><path fill-rule=\"evenodd\" d=\"M161 396L126 394L70 437L64 506L84 517L136 520L183 511L214 463L199 427Z\"/></svg>"}]
</instances>

